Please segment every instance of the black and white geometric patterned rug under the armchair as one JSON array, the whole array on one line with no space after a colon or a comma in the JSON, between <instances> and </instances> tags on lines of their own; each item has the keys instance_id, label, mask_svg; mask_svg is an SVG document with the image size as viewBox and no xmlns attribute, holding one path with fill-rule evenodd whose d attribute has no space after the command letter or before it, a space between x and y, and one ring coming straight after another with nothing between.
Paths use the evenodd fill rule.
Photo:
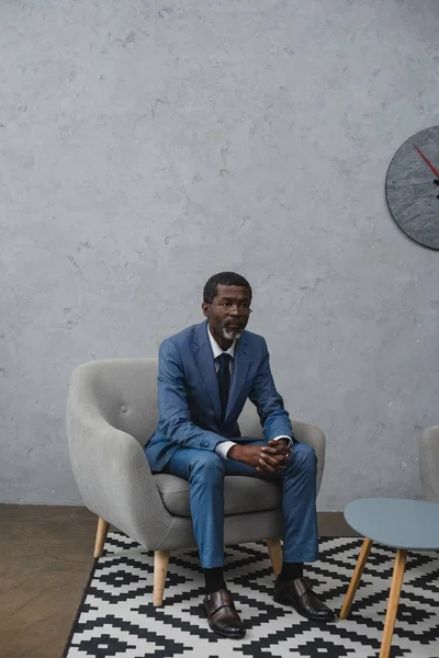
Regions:
<instances>
[{"instance_id":1,"label":"black and white geometric patterned rug under the armchair","mask_svg":"<svg viewBox=\"0 0 439 658\"><path fill-rule=\"evenodd\" d=\"M337 612L361 540L320 538L320 559L306 576ZM165 604L153 606L153 554L122 534L110 533L64 658L307 658L376 657L394 555L372 552L351 619L314 626L272 600L273 576L261 544L226 549L226 579L248 631L244 639L216 637L200 613L203 576L195 551L171 554ZM439 554L410 553L391 656L439 658Z\"/></svg>"}]
</instances>

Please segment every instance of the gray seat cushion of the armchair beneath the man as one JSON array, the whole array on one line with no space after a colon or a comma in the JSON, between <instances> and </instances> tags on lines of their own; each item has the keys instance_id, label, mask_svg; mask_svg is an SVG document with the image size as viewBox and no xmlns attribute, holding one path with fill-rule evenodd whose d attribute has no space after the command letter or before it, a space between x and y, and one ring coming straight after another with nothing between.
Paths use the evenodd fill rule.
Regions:
<instances>
[{"instance_id":1,"label":"gray seat cushion of the armchair beneath the man","mask_svg":"<svg viewBox=\"0 0 439 658\"><path fill-rule=\"evenodd\" d=\"M161 501L170 514L190 517L189 483L166 473L153 476ZM281 487L256 477L240 475L224 478L224 512L243 514L275 510L281 506Z\"/></svg>"}]
</instances>

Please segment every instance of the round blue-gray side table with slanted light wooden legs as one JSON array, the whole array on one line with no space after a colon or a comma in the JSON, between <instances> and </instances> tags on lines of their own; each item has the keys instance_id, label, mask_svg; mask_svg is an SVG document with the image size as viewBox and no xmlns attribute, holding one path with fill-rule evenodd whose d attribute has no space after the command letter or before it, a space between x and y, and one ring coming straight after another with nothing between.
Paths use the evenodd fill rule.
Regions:
<instances>
[{"instance_id":1,"label":"round blue-gray side table with slanted light wooden legs","mask_svg":"<svg viewBox=\"0 0 439 658\"><path fill-rule=\"evenodd\" d=\"M341 606L341 620L350 612L373 542L396 551L380 649L380 658L389 658L407 551L439 551L439 502L363 498L346 507L345 519L364 542Z\"/></svg>"}]
</instances>

